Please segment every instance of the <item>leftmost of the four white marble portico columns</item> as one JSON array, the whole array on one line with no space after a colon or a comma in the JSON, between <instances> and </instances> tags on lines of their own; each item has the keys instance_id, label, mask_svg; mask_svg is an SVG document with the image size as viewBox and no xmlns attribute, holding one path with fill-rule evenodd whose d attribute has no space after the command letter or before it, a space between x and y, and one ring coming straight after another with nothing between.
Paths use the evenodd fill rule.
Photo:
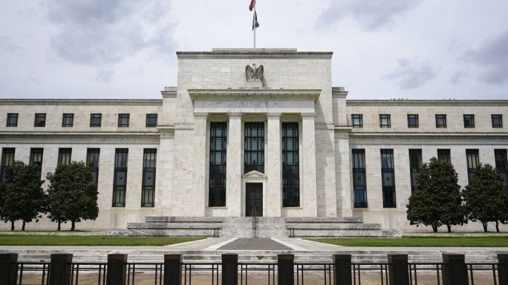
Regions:
<instances>
[{"instance_id":1,"label":"leftmost of the four white marble portico columns","mask_svg":"<svg viewBox=\"0 0 508 285\"><path fill-rule=\"evenodd\" d=\"M206 189L206 113L194 113L194 173L192 193L189 193L192 202L192 216L204 217L205 207L208 204Z\"/></svg>"}]
</instances>

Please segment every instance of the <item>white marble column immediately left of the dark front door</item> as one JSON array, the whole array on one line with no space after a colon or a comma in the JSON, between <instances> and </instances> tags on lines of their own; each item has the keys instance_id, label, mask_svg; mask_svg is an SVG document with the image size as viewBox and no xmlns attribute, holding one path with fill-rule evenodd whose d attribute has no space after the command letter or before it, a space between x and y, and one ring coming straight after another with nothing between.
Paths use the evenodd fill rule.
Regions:
<instances>
[{"instance_id":1,"label":"white marble column immediately left of the dark front door","mask_svg":"<svg viewBox=\"0 0 508 285\"><path fill-rule=\"evenodd\" d=\"M226 206L229 217L241 216L242 203L242 114L229 114L226 153Z\"/></svg>"}]
</instances>

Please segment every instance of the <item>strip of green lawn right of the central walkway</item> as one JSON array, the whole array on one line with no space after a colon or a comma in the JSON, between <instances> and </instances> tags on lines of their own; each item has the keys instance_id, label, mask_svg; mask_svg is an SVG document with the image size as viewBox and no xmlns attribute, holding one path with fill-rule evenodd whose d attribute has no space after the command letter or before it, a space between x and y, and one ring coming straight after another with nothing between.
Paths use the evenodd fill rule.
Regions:
<instances>
[{"instance_id":1,"label":"strip of green lawn right of the central walkway","mask_svg":"<svg viewBox=\"0 0 508 285\"><path fill-rule=\"evenodd\" d=\"M470 246L508 247L508 237L309 238L342 246Z\"/></svg>"}]
</instances>

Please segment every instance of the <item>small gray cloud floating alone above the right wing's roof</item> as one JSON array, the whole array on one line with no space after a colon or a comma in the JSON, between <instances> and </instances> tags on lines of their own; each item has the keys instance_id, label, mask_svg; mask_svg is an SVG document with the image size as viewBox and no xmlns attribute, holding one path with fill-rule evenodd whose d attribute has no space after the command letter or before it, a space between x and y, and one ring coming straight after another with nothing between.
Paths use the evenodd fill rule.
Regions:
<instances>
[{"instance_id":1,"label":"small gray cloud floating alone above the right wing's roof","mask_svg":"<svg viewBox=\"0 0 508 285\"><path fill-rule=\"evenodd\" d=\"M440 72L441 66L400 58L395 70L385 78L398 80L397 85L401 89L414 89L435 78Z\"/></svg>"}]
</instances>

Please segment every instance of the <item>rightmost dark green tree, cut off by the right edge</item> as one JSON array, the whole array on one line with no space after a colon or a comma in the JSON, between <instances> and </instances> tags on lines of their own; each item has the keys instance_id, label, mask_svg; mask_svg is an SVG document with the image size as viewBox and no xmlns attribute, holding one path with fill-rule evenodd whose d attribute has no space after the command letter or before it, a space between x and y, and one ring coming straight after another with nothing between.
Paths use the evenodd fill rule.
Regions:
<instances>
[{"instance_id":1,"label":"rightmost dark green tree, cut off by the right edge","mask_svg":"<svg viewBox=\"0 0 508 285\"><path fill-rule=\"evenodd\" d=\"M499 232L499 223L508 220L508 191L499 171L490 164L479 164L462 193L469 219L481 222L485 232L489 222L495 222Z\"/></svg>"}]
</instances>

